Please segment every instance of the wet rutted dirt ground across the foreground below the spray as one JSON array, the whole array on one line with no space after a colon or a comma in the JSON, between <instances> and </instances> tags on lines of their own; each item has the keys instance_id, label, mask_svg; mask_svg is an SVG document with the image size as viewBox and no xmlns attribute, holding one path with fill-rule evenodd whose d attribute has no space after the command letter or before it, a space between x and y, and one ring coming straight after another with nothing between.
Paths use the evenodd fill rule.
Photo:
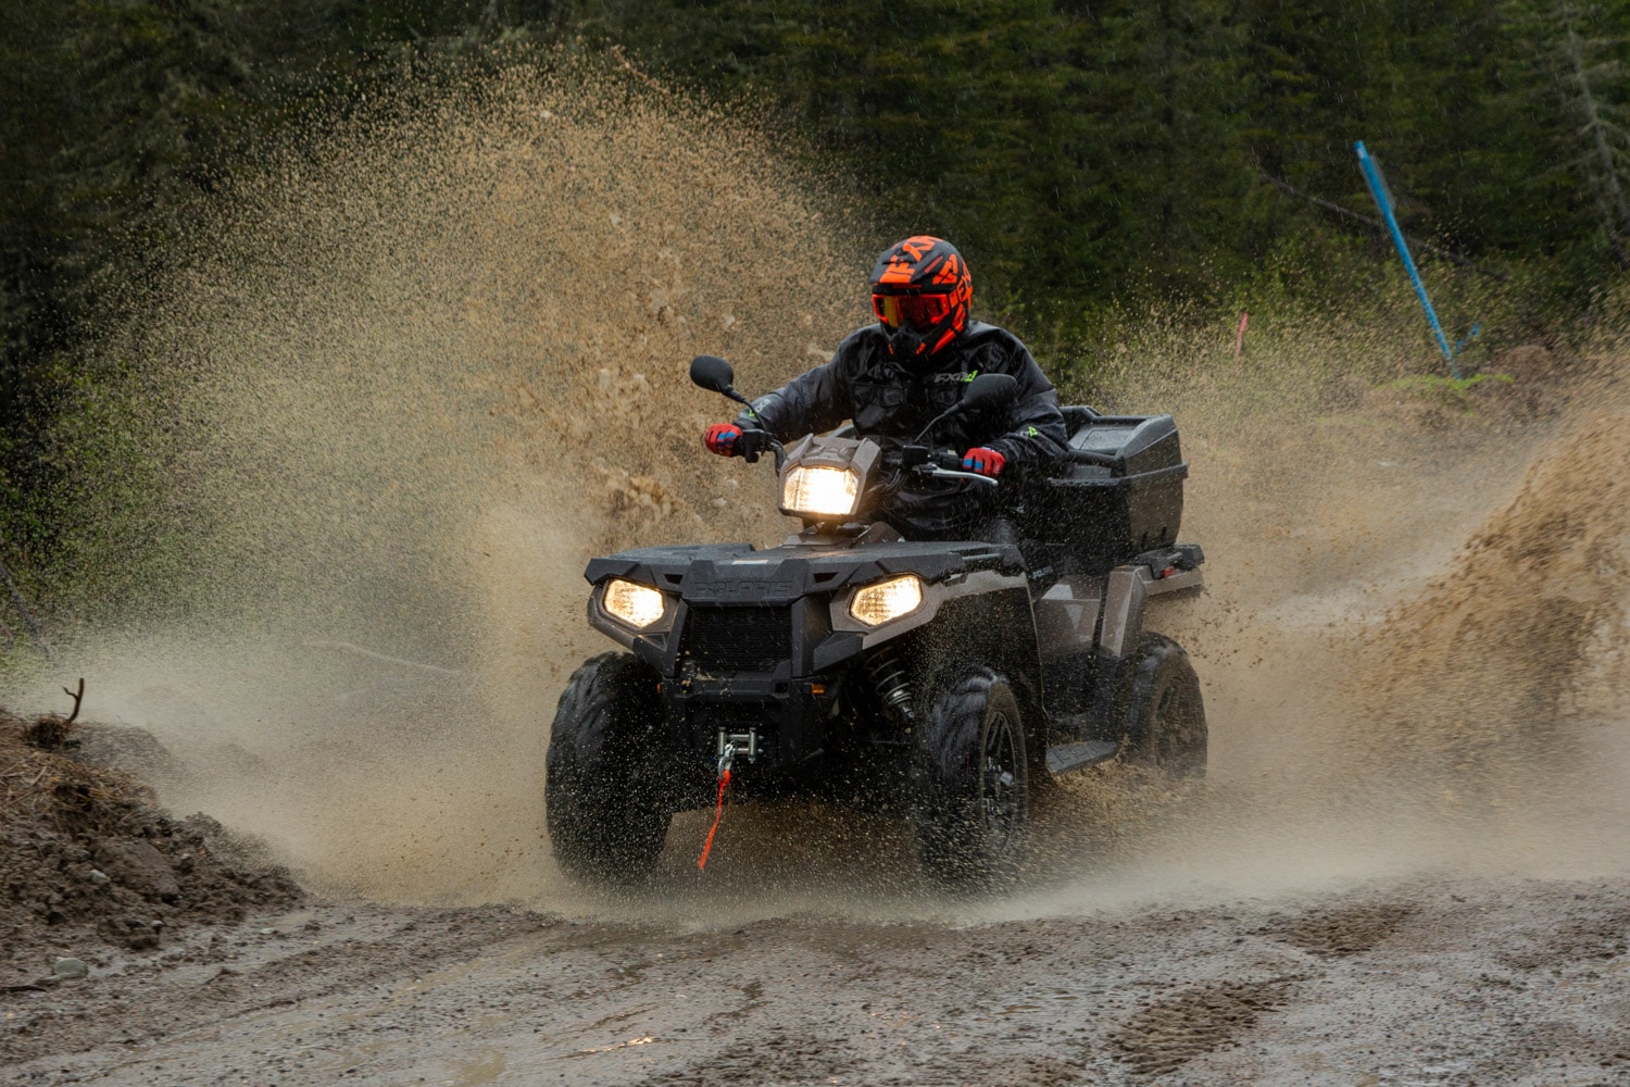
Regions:
<instances>
[{"instance_id":1,"label":"wet rutted dirt ground across the foreground below the spray","mask_svg":"<svg viewBox=\"0 0 1630 1087\"><path fill-rule=\"evenodd\" d=\"M0 1080L1606 1087L1627 931L1622 878L971 926L318 906L0 994Z\"/></svg>"}]
</instances>

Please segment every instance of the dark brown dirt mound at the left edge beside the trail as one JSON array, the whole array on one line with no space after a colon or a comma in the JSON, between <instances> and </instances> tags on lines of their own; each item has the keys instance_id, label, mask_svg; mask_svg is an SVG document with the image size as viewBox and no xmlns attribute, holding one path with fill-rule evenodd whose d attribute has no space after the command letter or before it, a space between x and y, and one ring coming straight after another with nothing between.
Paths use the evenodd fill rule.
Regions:
<instances>
[{"instance_id":1,"label":"dark brown dirt mound at the left edge beside the trail","mask_svg":"<svg viewBox=\"0 0 1630 1087\"><path fill-rule=\"evenodd\" d=\"M253 843L205 815L176 820L129 774L82 763L72 748L42 750L37 737L0 712L0 975L10 983L37 978L46 948L145 950L170 929L302 898Z\"/></svg>"}]
</instances>

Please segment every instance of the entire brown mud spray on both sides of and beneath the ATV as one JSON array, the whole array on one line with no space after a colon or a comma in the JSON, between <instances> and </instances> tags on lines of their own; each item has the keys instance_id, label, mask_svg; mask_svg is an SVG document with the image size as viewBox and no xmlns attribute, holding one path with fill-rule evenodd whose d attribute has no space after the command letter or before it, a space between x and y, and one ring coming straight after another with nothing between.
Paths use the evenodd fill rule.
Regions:
<instances>
[{"instance_id":1,"label":"entire brown mud spray on both sides of and beneath the ATV","mask_svg":"<svg viewBox=\"0 0 1630 1087\"><path fill-rule=\"evenodd\" d=\"M1623 460L1615 424L1399 411L1372 386L1418 368L1407 336L1345 337L1371 368L1296 388L1299 329L1284 365L1258 359L1271 381L1190 368L1118 404L1177 411L1195 469L1213 595L1157 623L1206 684L1206 794L1074 781L1051 877L988 908L927 896L896 823L818 807L734 808L704 887L701 815L649 895L564 887L540 782L561 684L608 649L584 561L784 531L768 473L701 456L725 412L685 362L725 354L768 388L864 318L866 248L812 187L751 127L580 62L416 85L269 152L106 342L158 386L129 437L160 500L98 521L91 552L143 603L82 640L88 711L183 758L170 803L277 843L319 893L385 901L1079 913L1542 865L1584 808L1573 859L1627 860L1599 849L1630 826L1609 800L1625 526L1596 474ZM1573 743L1586 717L1609 722L1596 748ZM1501 761L1539 730L1557 758Z\"/></svg>"}]
</instances>

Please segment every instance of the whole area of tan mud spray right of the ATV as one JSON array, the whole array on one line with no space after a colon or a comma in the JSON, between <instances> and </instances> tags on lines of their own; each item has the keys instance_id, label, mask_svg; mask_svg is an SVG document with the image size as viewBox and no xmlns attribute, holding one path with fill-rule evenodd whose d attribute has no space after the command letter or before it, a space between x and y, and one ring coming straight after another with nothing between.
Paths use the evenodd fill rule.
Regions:
<instances>
[{"instance_id":1,"label":"whole area of tan mud spray right of the ATV","mask_svg":"<svg viewBox=\"0 0 1630 1087\"><path fill-rule=\"evenodd\" d=\"M1213 593L1165 629L1206 686L1209 789L1143 794L1094 878L996 916L1623 872L1627 357L1602 344L1470 411L1382 386L1247 432L1247 393L1192 398Z\"/></svg>"}]
</instances>

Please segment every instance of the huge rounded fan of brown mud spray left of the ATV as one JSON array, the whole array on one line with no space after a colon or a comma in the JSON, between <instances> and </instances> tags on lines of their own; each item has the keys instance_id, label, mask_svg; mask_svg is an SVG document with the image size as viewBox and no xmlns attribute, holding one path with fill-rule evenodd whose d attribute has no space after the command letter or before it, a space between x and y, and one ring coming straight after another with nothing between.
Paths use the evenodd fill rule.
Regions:
<instances>
[{"instance_id":1,"label":"huge rounded fan of brown mud spray left of the ATV","mask_svg":"<svg viewBox=\"0 0 1630 1087\"><path fill-rule=\"evenodd\" d=\"M771 386L857 319L864 261L789 148L593 60L409 80L310 132L103 339L139 375L137 484L88 517L124 606L68 667L196 769L168 802L319 890L536 895L548 724L606 649L585 561L782 531L769 473L701 455L734 409L688 360Z\"/></svg>"}]
</instances>

